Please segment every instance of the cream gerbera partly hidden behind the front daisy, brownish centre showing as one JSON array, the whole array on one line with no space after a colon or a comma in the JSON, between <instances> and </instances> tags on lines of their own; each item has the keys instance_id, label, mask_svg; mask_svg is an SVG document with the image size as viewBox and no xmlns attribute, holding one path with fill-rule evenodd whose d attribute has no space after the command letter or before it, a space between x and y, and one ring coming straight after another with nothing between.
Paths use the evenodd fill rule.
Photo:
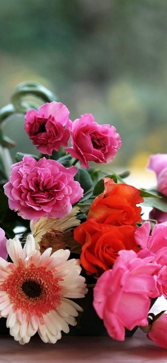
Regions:
<instances>
[{"instance_id":1,"label":"cream gerbera partly hidden behind the front daisy, brownish centre showing","mask_svg":"<svg viewBox=\"0 0 167 363\"><path fill-rule=\"evenodd\" d=\"M36 222L31 220L30 229L36 242L36 249L43 252L51 246L55 252L65 246L75 246L76 241L74 241L72 229L80 224L80 220L76 219L77 213L79 213L79 208L73 207L62 219L45 216Z\"/></svg>"}]
</instances>

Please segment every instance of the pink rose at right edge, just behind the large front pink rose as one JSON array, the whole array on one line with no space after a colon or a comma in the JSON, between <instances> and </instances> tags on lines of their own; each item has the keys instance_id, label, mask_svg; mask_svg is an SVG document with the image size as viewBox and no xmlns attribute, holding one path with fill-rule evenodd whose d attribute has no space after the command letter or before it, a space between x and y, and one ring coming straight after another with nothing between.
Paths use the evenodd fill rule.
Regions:
<instances>
[{"instance_id":1,"label":"pink rose at right edge, just behind the large front pink rose","mask_svg":"<svg viewBox=\"0 0 167 363\"><path fill-rule=\"evenodd\" d=\"M142 248L155 254L155 261L162 266L158 281L162 284L163 295L167 298L167 224L156 224L150 236L150 222L146 221L134 233L135 241Z\"/></svg>"}]
</instances>

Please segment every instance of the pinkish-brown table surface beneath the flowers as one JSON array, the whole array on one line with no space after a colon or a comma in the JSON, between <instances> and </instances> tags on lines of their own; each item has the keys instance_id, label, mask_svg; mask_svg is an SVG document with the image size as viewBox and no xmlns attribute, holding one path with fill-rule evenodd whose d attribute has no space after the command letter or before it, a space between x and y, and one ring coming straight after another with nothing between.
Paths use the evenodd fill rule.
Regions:
<instances>
[{"instance_id":1,"label":"pinkish-brown table surface beneath the flowers","mask_svg":"<svg viewBox=\"0 0 167 363\"><path fill-rule=\"evenodd\" d=\"M64 336L56 344L45 344L35 336L21 346L12 337L1 335L0 347L1 363L167 363L167 349L156 346L139 329L125 342Z\"/></svg>"}]
</instances>

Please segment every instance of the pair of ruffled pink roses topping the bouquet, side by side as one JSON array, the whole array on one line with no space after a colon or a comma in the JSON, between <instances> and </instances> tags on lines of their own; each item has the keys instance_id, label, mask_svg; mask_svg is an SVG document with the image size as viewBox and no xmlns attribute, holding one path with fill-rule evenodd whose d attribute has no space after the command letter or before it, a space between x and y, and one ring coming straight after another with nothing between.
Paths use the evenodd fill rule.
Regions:
<instances>
[{"instance_id":1,"label":"pair of ruffled pink roses topping the bouquet, side by side","mask_svg":"<svg viewBox=\"0 0 167 363\"><path fill-rule=\"evenodd\" d=\"M62 103L45 103L38 111L26 113L25 130L43 154L51 155L53 150L59 151L60 146L67 146L71 135L72 147L66 151L79 159L82 167L89 168L88 161L111 162L121 147L115 127L99 125L91 114L84 114L74 122L68 116L69 111Z\"/></svg>"}]
</instances>

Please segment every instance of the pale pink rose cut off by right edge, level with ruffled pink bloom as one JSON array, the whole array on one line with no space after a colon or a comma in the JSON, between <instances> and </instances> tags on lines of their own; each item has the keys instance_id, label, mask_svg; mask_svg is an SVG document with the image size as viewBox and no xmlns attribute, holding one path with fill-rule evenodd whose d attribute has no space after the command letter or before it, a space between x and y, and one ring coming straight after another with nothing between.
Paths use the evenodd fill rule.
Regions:
<instances>
[{"instance_id":1,"label":"pale pink rose cut off by right edge, level with ruffled pink bloom","mask_svg":"<svg viewBox=\"0 0 167 363\"><path fill-rule=\"evenodd\" d=\"M155 171L158 181L157 189L167 196L167 154L151 155L147 169Z\"/></svg>"}]
</instances>

